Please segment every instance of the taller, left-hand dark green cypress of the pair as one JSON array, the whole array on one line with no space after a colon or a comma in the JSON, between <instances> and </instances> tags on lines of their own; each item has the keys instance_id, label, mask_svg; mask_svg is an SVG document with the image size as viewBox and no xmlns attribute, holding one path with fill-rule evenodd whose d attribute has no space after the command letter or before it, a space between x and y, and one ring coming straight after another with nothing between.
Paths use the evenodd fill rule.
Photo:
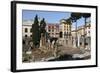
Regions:
<instances>
[{"instance_id":1,"label":"taller, left-hand dark green cypress of the pair","mask_svg":"<svg viewBox=\"0 0 100 73\"><path fill-rule=\"evenodd\" d=\"M32 40L33 40L33 47L39 46L40 43L40 34L39 34L39 21L38 15L34 18L34 23L32 24Z\"/></svg>"}]
</instances>

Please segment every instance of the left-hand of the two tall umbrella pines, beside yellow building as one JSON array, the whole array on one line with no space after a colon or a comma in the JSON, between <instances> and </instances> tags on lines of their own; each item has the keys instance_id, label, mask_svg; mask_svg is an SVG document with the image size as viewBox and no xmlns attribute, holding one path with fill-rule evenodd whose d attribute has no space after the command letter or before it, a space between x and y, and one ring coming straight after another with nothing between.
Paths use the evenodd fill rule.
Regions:
<instances>
[{"instance_id":1,"label":"left-hand of the two tall umbrella pines, beside yellow building","mask_svg":"<svg viewBox=\"0 0 100 73\"><path fill-rule=\"evenodd\" d=\"M81 18L81 13L71 13L71 19L72 19L72 22L76 22L76 47L77 47L77 44L78 44L78 41L77 41L77 20Z\"/></svg>"}]
</instances>

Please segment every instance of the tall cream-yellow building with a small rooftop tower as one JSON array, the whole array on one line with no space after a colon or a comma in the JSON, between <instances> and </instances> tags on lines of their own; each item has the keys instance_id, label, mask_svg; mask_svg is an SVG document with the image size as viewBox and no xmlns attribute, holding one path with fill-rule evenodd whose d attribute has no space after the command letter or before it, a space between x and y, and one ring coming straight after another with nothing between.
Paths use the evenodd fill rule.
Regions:
<instances>
[{"instance_id":1,"label":"tall cream-yellow building with a small rooftop tower","mask_svg":"<svg viewBox=\"0 0 100 73\"><path fill-rule=\"evenodd\" d=\"M71 45L71 25L66 23L65 19L60 20L60 25L59 25L59 33L62 34L62 36L59 38L59 42L62 45Z\"/></svg>"}]
</instances>

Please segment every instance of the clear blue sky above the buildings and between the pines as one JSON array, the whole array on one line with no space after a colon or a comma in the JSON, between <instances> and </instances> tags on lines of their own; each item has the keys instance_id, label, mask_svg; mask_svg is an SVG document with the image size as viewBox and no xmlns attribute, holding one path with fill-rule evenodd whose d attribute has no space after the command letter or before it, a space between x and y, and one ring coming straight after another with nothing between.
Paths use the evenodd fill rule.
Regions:
<instances>
[{"instance_id":1,"label":"clear blue sky above the buildings and between the pines","mask_svg":"<svg viewBox=\"0 0 100 73\"><path fill-rule=\"evenodd\" d=\"M40 19L45 18L47 23L60 23L61 19L68 19L71 16L71 12L23 10L22 18L23 20L34 20L36 14ZM77 22L77 26L83 25L84 18L80 18ZM73 23L74 26L75 23Z\"/></svg>"}]
</instances>

